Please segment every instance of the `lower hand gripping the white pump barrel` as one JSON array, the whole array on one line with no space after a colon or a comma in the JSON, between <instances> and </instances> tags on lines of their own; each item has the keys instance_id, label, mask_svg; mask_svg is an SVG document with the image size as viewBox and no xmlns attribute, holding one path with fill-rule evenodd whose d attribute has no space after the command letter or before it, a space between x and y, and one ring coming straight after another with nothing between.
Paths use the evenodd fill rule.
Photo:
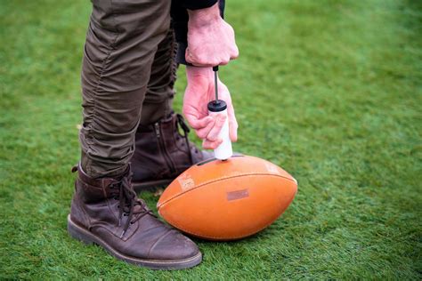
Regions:
<instances>
[{"instance_id":1,"label":"lower hand gripping the white pump barrel","mask_svg":"<svg viewBox=\"0 0 422 281\"><path fill-rule=\"evenodd\" d=\"M226 117L223 114L208 116L207 104L215 100L214 71L212 68L186 67L186 75L188 86L184 92L183 115L203 140L202 147L216 149L223 141L218 138L218 133L223 128ZM220 80L218 80L218 99L227 103L230 139L233 142L237 141L238 122L234 116L230 92Z\"/></svg>"}]
</instances>

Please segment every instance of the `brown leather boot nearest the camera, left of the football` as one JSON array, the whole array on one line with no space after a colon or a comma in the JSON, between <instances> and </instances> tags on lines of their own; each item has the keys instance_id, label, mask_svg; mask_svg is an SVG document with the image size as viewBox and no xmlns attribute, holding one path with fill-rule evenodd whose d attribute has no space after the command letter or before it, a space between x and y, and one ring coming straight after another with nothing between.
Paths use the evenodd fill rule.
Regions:
<instances>
[{"instance_id":1,"label":"brown leather boot nearest the camera, left of the football","mask_svg":"<svg viewBox=\"0 0 422 281\"><path fill-rule=\"evenodd\" d=\"M129 169L118 178L89 178L80 168L68 216L72 237L101 245L116 258L151 269L186 269L202 255L189 238L153 215L136 197Z\"/></svg>"}]
</instances>

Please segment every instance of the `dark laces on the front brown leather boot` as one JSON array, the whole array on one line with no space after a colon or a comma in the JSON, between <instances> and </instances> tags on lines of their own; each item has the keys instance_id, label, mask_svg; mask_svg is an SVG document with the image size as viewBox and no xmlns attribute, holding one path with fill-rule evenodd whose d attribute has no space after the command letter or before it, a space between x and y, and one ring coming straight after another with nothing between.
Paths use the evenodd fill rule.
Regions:
<instances>
[{"instance_id":1,"label":"dark laces on the front brown leather boot","mask_svg":"<svg viewBox=\"0 0 422 281\"><path fill-rule=\"evenodd\" d=\"M152 211L147 207L143 200L139 199L134 192L132 187L132 173L129 176L123 177L117 182L113 182L110 185L110 189L116 189L117 193L114 194L115 199L119 200L118 202L118 226L121 226L123 216L127 216L125 226L120 235L120 238L123 237L129 229L130 224L139 221L142 217L147 214L150 214L154 217L157 217Z\"/></svg>"}]
</instances>

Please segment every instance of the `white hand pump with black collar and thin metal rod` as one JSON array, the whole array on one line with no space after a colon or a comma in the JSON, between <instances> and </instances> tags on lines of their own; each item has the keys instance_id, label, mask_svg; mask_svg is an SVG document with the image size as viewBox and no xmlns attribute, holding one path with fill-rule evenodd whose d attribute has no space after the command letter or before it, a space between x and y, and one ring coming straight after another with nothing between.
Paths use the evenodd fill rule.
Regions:
<instances>
[{"instance_id":1,"label":"white hand pump with black collar and thin metal rod","mask_svg":"<svg viewBox=\"0 0 422 281\"><path fill-rule=\"evenodd\" d=\"M215 100L208 102L208 115L223 114L226 116L223 128L218 134L218 137L223 142L214 149L214 157L219 160L227 160L233 155L233 149L231 149L231 141L229 136L229 116L227 114L227 104L224 100L218 100L218 66L213 68L214 71L214 83L215 83Z\"/></svg>"}]
</instances>

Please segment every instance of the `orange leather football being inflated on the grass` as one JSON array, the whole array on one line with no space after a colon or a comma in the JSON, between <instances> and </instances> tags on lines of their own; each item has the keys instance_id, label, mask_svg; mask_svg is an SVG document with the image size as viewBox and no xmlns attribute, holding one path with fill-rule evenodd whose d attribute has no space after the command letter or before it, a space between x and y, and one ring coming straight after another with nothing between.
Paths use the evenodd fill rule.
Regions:
<instances>
[{"instance_id":1,"label":"orange leather football being inflated on the grass","mask_svg":"<svg viewBox=\"0 0 422 281\"><path fill-rule=\"evenodd\" d=\"M234 240L268 227L295 197L297 181L271 162L237 156L207 160L176 178L158 213L194 237Z\"/></svg>"}]
</instances>

